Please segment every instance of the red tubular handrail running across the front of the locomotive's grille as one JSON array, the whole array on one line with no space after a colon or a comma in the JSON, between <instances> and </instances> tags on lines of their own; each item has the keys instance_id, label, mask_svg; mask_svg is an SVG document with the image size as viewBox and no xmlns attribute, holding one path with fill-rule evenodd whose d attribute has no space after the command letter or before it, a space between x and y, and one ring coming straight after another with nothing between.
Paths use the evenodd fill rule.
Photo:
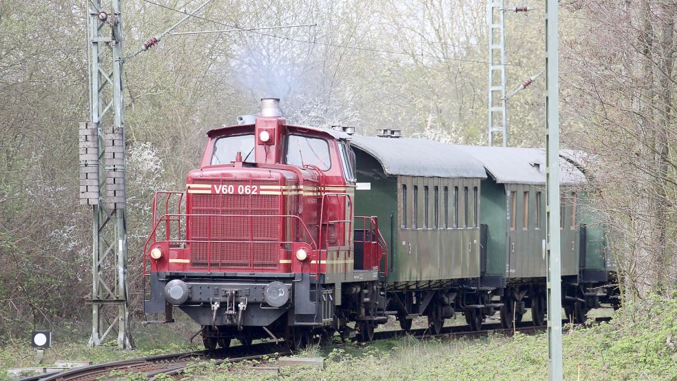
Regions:
<instances>
[{"instance_id":1,"label":"red tubular handrail running across the front of the locomotive's grille","mask_svg":"<svg viewBox=\"0 0 677 381\"><path fill-rule=\"evenodd\" d=\"M148 247L149 245L152 245L153 243L158 242L156 238L156 231L158 227L160 226L160 223L163 221L167 220L174 220L173 218L176 218L176 220L180 220L181 218L184 217L207 217L207 218L214 218L214 217L233 217L233 218L292 218L294 220L298 220L299 226L302 228L302 231L306 234L306 236L309 238L311 241L310 243L306 242L306 244L311 246L311 249L313 251L320 251L318 248L317 243L315 242L315 239L313 239L313 236L311 235L308 227L306 227L306 224L303 222L303 220L299 216L294 216L291 214L181 214L181 213L176 213L176 214L164 214L160 218L158 218L153 226L153 230L151 234L149 234L148 238L146 239L146 242L143 245L143 275L144 276L149 276L150 273L146 271L146 266L147 266L147 256L148 256ZM180 224L179 224L180 225ZM211 230L211 229L210 229ZM176 239L176 240L171 240L171 236L168 237L167 242L185 242L185 243L204 243L207 242L211 245L211 231L209 231L210 236L207 241L205 240L188 240L188 239ZM242 242L249 242L249 241L242 241L242 240L218 240L218 241L213 241L214 243L242 243ZM256 243L293 243L293 240L285 240L285 241L256 241ZM253 243L252 243L253 245ZM209 258L207 259L209 261Z\"/></svg>"}]
</instances>

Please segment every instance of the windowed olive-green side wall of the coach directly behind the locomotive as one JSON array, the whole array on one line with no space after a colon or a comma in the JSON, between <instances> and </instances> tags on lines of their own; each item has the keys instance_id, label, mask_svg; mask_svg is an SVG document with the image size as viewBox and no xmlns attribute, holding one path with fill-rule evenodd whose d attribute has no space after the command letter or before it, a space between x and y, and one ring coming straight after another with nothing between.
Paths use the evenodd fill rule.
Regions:
<instances>
[{"instance_id":1,"label":"windowed olive-green side wall of the coach directly behind the locomotive","mask_svg":"<svg viewBox=\"0 0 677 381\"><path fill-rule=\"evenodd\" d=\"M477 178L398 176L398 282L479 277Z\"/></svg>"}]
</instances>

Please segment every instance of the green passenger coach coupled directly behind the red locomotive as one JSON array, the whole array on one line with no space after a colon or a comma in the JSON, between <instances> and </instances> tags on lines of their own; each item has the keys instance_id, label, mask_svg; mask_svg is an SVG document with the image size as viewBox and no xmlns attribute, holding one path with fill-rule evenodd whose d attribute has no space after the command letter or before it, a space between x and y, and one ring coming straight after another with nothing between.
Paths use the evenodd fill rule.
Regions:
<instances>
[{"instance_id":1,"label":"green passenger coach coupled directly behind the red locomotive","mask_svg":"<svg viewBox=\"0 0 677 381\"><path fill-rule=\"evenodd\" d=\"M353 136L355 213L377 216L390 247L390 304L403 328L426 315L441 329L462 311L479 329L500 307L482 287L483 165L459 147L414 138Z\"/></svg>"}]
</instances>

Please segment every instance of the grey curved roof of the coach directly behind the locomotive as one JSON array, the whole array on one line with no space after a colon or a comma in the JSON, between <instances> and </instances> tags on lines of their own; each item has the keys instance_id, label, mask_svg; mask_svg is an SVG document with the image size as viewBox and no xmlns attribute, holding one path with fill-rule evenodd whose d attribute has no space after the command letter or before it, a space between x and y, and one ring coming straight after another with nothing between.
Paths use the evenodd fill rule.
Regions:
<instances>
[{"instance_id":1,"label":"grey curved roof of the coach directly behind the locomotive","mask_svg":"<svg viewBox=\"0 0 677 381\"><path fill-rule=\"evenodd\" d=\"M390 175L486 178L482 163L456 145L356 135L351 137L351 145L373 156Z\"/></svg>"}]
</instances>

